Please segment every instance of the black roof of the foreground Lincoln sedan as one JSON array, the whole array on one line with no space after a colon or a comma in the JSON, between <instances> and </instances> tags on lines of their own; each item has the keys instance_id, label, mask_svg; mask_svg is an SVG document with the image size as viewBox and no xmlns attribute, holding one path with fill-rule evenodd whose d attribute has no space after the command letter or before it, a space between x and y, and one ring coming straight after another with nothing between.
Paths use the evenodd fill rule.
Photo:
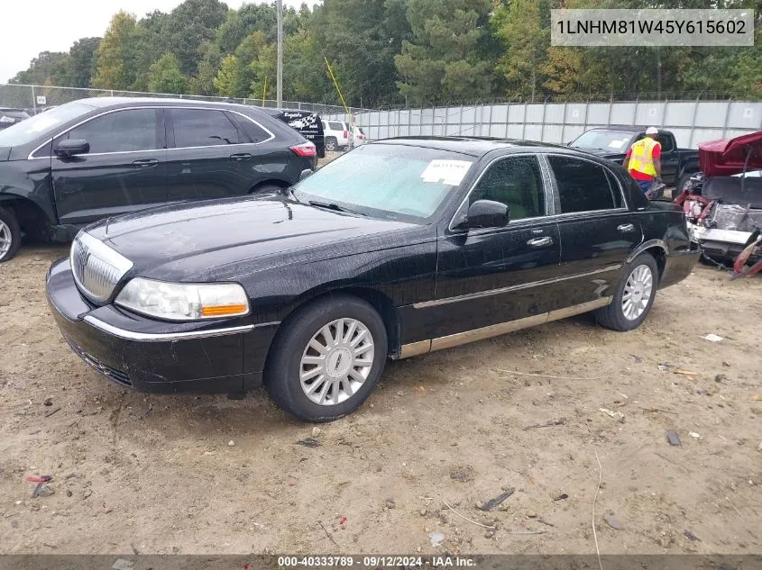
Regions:
<instances>
[{"instance_id":1,"label":"black roof of the foreground Lincoln sedan","mask_svg":"<svg viewBox=\"0 0 762 570\"><path fill-rule=\"evenodd\" d=\"M482 157L493 150L510 151L550 151L564 150L573 154L581 154L568 147L555 145L546 142L537 142L535 140L521 139L496 139L491 137L394 137L391 139L374 140L370 144L399 144L412 147L421 147L426 149L448 150L451 152L460 152L473 157Z\"/></svg>"}]
</instances>

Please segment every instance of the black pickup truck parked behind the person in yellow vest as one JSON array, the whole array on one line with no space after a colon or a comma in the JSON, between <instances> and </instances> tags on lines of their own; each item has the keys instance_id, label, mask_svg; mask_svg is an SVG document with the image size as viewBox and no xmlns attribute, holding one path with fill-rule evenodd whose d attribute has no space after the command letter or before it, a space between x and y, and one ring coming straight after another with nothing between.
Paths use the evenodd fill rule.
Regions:
<instances>
[{"instance_id":1,"label":"black pickup truck parked behind the person in yellow vest","mask_svg":"<svg viewBox=\"0 0 762 570\"><path fill-rule=\"evenodd\" d=\"M645 136L646 127L601 127L584 131L569 146L621 164L629 148ZM659 131L656 140L662 145L662 181L675 187L675 198L688 179L699 171L699 152L678 149L671 131Z\"/></svg>"}]
</instances>

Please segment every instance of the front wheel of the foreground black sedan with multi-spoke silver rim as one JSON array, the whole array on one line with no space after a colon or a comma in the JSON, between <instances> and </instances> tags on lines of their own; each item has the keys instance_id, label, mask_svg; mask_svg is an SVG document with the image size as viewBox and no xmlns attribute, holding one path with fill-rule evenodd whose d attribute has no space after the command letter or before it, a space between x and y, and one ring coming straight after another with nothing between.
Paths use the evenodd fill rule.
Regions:
<instances>
[{"instance_id":1,"label":"front wheel of the foreground black sedan with multi-spoke silver rim","mask_svg":"<svg viewBox=\"0 0 762 570\"><path fill-rule=\"evenodd\" d=\"M326 328L330 339L323 333ZM353 347L341 341L335 344L339 328L344 339L352 334L349 340ZM327 352L313 348L326 346ZM357 348L366 348L359 356L370 366L356 365L358 360L352 352ZM264 383L284 412L304 421L333 421L356 410L371 394L386 357L386 328L379 313L362 299L330 295L299 309L278 331L265 366ZM304 382L300 375L304 375Z\"/></svg>"}]
</instances>

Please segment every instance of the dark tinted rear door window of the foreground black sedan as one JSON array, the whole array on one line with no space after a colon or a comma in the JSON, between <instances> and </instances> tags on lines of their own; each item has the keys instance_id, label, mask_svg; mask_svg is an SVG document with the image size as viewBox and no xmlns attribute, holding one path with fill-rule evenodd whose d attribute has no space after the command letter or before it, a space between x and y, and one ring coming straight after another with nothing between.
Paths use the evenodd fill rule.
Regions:
<instances>
[{"instance_id":1,"label":"dark tinted rear door window of the foreground black sedan","mask_svg":"<svg viewBox=\"0 0 762 570\"><path fill-rule=\"evenodd\" d=\"M548 157L561 199L561 213L611 210L617 207L606 171L587 160Z\"/></svg>"}]
</instances>

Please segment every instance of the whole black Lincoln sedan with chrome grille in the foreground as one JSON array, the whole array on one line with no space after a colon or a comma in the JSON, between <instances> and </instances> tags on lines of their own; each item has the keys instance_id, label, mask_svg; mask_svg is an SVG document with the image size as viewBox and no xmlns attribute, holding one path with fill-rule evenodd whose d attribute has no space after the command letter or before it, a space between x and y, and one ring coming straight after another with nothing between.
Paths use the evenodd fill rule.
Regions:
<instances>
[{"instance_id":1,"label":"whole black Lincoln sedan with chrome grille in the foreground","mask_svg":"<svg viewBox=\"0 0 762 570\"><path fill-rule=\"evenodd\" d=\"M182 204L81 231L50 267L71 348L147 392L264 382L308 421L406 358L594 311L636 328L687 276L683 213L621 167L528 141L364 145L288 195Z\"/></svg>"}]
</instances>

